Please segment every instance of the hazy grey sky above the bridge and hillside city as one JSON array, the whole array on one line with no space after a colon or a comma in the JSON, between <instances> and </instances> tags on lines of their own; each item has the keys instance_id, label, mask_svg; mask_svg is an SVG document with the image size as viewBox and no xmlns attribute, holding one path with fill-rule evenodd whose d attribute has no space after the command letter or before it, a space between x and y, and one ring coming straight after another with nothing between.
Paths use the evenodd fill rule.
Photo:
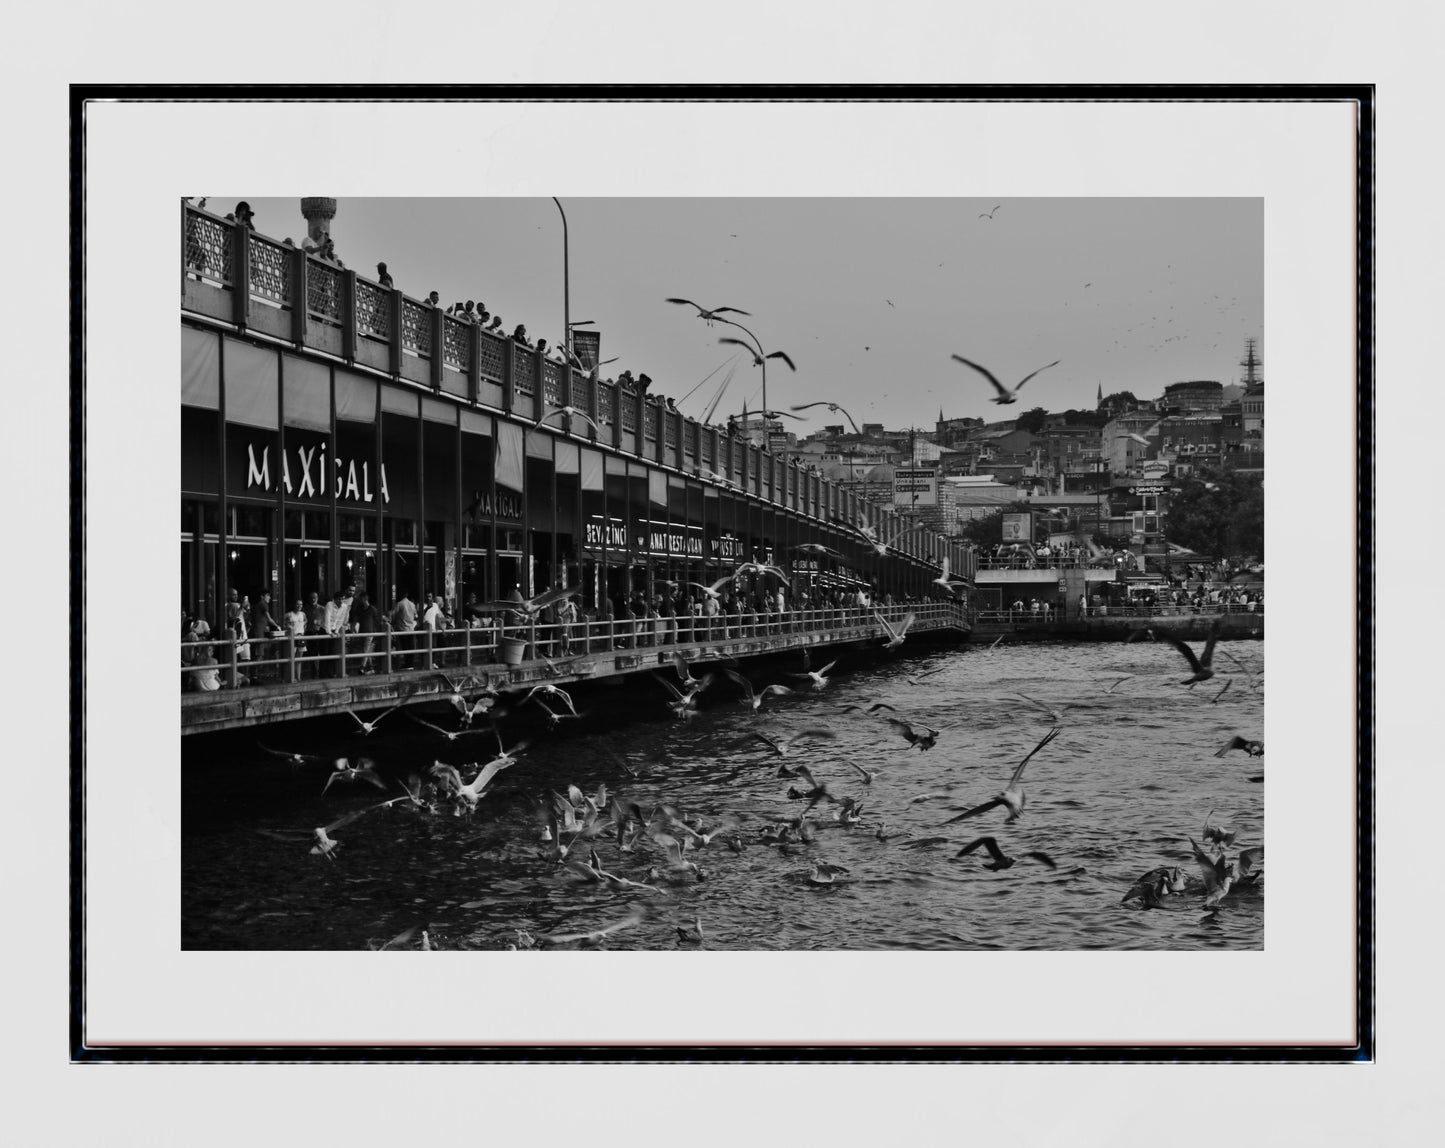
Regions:
<instances>
[{"instance_id":1,"label":"hazy grey sky above the bridge and hillside city","mask_svg":"<svg viewBox=\"0 0 1445 1148\"><path fill-rule=\"evenodd\" d=\"M263 234L301 241L299 198L249 198ZM234 198L207 204L230 211ZM996 208L997 204L997 210ZM595 320L603 357L653 377L701 416L730 370L714 421L757 409L759 372L718 346L678 295L737 307L766 351L773 409L829 399L861 424L932 428L1032 406L1091 408L1104 393L1157 396L1182 379L1230 383L1244 337L1263 341L1263 200L564 200L572 320ZM993 211L991 218L981 213ZM551 200L340 197L331 234L348 267L442 304L477 299L510 331L562 335L562 226ZM733 333L736 334L736 333ZM996 406L987 366L1016 406ZM715 372L715 373L714 373ZM702 382L711 374L705 383ZM701 386L699 386L701 383ZM696 389L694 389L696 387ZM683 398L692 392L691 396ZM824 408L799 435L837 422Z\"/></svg>"}]
</instances>

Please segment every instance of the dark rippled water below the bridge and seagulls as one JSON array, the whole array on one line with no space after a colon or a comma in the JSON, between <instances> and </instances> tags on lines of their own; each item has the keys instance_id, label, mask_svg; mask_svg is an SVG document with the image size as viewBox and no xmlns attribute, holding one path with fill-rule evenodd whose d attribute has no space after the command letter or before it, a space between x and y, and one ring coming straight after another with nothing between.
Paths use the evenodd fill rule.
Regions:
<instances>
[{"instance_id":1,"label":"dark rippled water below the bridge and seagulls","mask_svg":"<svg viewBox=\"0 0 1445 1148\"><path fill-rule=\"evenodd\" d=\"M447 743L392 714L371 737L350 719L185 739L182 748L182 943L186 948L364 948L405 930L428 930L448 948L499 948L532 935L585 933L646 908L644 918L607 937L610 948L675 948L678 925L701 918L709 948L1261 948L1263 888L1225 898L1215 914L1201 895L1170 896L1144 911L1120 898L1159 865L1196 876L1188 837L1205 817L1238 831L1234 849L1263 844L1263 759L1214 752L1234 733L1263 737L1264 648L1221 642L1217 677L1181 685L1183 659L1153 642L1035 643L913 649L903 656L842 652L822 691L770 697L754 717L730 682L704 695L704 711L678 723L665 691L642 677L626 685L578 688L584 721L555 733L509 723L504 736L532 737L520 763L504 771L475 817L412 811L368 813L335 830L335 862L309 854L309 841L267 831L329 824L384 800L366 785L332 785L329 766L289 766L257 749L353 758L366 755L381 774L405 776L436 759L486 759L490 737ZM1250 672L1238 669L1231 654ZM815 654L815 664L824 661ZM796 655L750 668L759 681L788 681ZM941 669L938 674L918 675ZM670 671L669 671L670 672ZM699 671L701 672L701 671ZM1113 693L1114 680L1131 675ZM910 682L910 678L915 681ZM1233 681L1231 681L1233 680ZM1227 681L1228 691L1212 701ZM790 682L798 685L799 682ZM725 688L724 688L725 687ZM1027 766L1023 817L1004 824L996 808L952 826L957 811L997 794L1014 765L1048 733L1049 716L1017 694L1062 713L1062 732ZM910 748L890 726L841 706L884 701L899 717L941 729L928 752ZM431 714L451 727L454 716ZM344 724L342 724L344 723ZM805 802L786 797L780 759L750 734L827 724L835 742L803 740L786 759L806 763L837 795L864 802L863 820L844 827L819 804L816 837L799 852L759 840L762 830L796 817ZM639 776L607 755L605 743ZM847 762L876 771L871 785ZM747 847L689 853L702 881L663 883L660 894L613 894L553 866L539 843L536 801L575 784L610 792L643 810L670 802L714 824L743 818ZM392 794L400 792L393 789ZM920 800L926 798L926 800ZM877 840L886 821L900 834ZM990 872L984 854L955 859L959 846L994 834L1010 854L1049 853L1058 869L1020 860ZM932 843L931 843L932 839ZM1230 856L1234 854L1230 850ZM610 872L646 881L662 852L643 839L634 853L614 840L597 850ZM812 863L847 868L834 885L809 882Z\"/></svg>"}]
</instances>

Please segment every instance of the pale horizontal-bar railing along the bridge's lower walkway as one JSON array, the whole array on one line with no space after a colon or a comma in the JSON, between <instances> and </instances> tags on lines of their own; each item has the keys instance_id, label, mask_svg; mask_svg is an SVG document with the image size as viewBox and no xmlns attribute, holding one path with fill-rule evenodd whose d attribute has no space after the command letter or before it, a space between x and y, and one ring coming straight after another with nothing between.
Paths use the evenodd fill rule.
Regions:
<instances>
[{"instance_id":1,"label":"pale horizontal-bar railing along the bridge's lower walkway","mask_svg":"<svg viewBox=\"0 0 1445 1148\"><path fill-rule=\"evenodd\" d=\"M368 674L522 665L588 654L691 646L789 635L835 633L874 627L877 616L892 626L915 614L918 629L965 623L959 606L926 601L902 606L840 606L808 610L673 617L611 617L578 622L506 619L481 626L374 633L286 635L241 641L181 643L181 688L186 693L283 685ZM202 654L204 651L204 654ZM212 661L204 661L211 658Z\"/></svg>"}]
</instances>

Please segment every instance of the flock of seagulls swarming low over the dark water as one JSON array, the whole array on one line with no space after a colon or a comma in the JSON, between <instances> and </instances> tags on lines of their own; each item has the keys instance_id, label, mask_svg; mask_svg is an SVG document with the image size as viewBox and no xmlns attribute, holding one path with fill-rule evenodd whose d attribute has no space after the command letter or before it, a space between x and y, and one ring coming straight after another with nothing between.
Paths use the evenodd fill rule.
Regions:
<instances>
[{"instance_id":1,"label":"flock of seagulls swarming low over the dark water","mask_svg":"<svg viewBox=\"0 0 1445 1148\"><path fill-rule=\"evenodd\" d=\"M533 604L536 601L533 600ZM507 603L507 609L517 609L517 603ZM892 649L902 642L902 636L907 630L907 619L899 625L897 630L881 614L877 616L877 620L883 649ZM1202 656L1195 655L1181 639L1163 633L1160 638L1176 645L1191 668L1196 671L1195 677L1182 684L1194 685L1195 681L1204 680L1198 677L1198 671L1208 669L1218 639L1218 627L1209 633ZM763 710L769 703L796 706L799 703L792 701L792 698L798 694L825 693L832 681L829 674L837 667L838 659L834 659L821 669L812 669L808 651L803 651L802 669L788 674L792 680L802 682L795 690L780 682L764 684L727 664L695 674L694 665L688 662L686 656L682 652L675 652L675 675L655 671L652 678L665 687L665 700L679 720L689 720L698 711L699 698L718 681L733 682L749 719L760 720L764 717ZM942 672L944 668L946 667L923 669L906 680L916 687ZM455 726L448 727L441 720L413 717L418 727L447 743L457 743L460 739L470 740L474 736L490 736L496 743L496 753L486 761L475 761L470 765L436 761L425 776L412 772L405 779L387 779L376 762L368 758L329 758L263 745L260 748L266 753L293 768L311 763L327 765L328 775L321 797L327 797L334 785L355 784L381 791L390 787L394 795L309 830L262 831L279 840L305 843L312 856L332 863L341 850L341 840L337 834L373 813L402 810L412 814L452 815L470 820L475 817L484 802L496 798L503 775L514 768L529 749L526 740L510 749L506 746L500 727L501 720L529 706L556 719L579 716L572 697L553 682L517 684L499 690L478 684L474 678L452 680L445 674L438 674L438 677L447 687L441 700L455 714ZM1098 685L1101 693L1111 694L1133 677L1126 674L1108 682L1101 681ZM1007 782L993 797L975 800L961 808L955 805L952 815L942 820L939 828L946 830L962 821L972 823L994 811L1003 813L998 823L1003 828L1010 828L1023 818L1027 805L1025 772L1045 750L1058 745L1058 739L1065 730L1066 714L1075 708L1077 703L1055 706L1026 694L1016 694L1016 697L1030 708L1048 716L1055 724L1023 755ZM812 713L818 713L816 706L802 704L805 706L803 713L808 713L809 708ZM380 721L396 708L387 708L370 721L351 714L357 721L358 736L373 734ZM933 749L945 737L946 730L933 729L913 717L899 716L896 708L886 701L850 703L835 707L832 714L834 717L829 720L814 724L803 723L801 727L776 729L769 726L750 730L746 739L736 746L738 750L756 746L766 750L770 759L777 759L779 785L788 782L788 788L777 797L780 808L776 815L741 814L731 810L707 815L689 811L679 801L666 798L646 808L624 792L608 792L605 784L597 785L594 792L584 792L579 785L566 784L532 797L530 801L536 808L538 859L551 865L558 879L577 882L581 888L592 889L597 895L617 895L624 898L627 904L614 920L585 931L533 934L516 930L514 935L509 937L506 947L517 950L564 946L604 947L616 934L662 914L673 914L673 928L679 947L707 947L709 937L699 915L692 914L691 920L676 920L676 912L686 901L679 891L708 881L709 870L715 869L718 863L725 863L717 859L744 853L750 847L770 849L785 859L802 859L805 869L795 870L792 878L799 885L847 885L854 879L850 868L829 860L824 847L835 833L858 833L861 830L863 834L876 839L880 846L909 839L902 841L902 847L919 850L952 844L957 846L952 853L955 862L978 859L983 869L994 873L1003 873L1023 862L1035 863L1048 870L1059 869L1061 862L1055 853L1032 843L1027 847L1012 846L997 831L980 833L970 840L957 841L942 834L916 836L892 828L889 821L880 815L880 810L892 798L899 797L897 787L889 779L894 774L902 775L902 771L868 768L845 758L831 759L832 766L829 768L829 746L840 739L838 721L847 719L850 723L879 723L880 732L902 739L905 752ZM555 726L556 721L549 724ZM855 729L864 727L857 726ZM853 742L857 745L857 739ZM1263 758L1264 746L1261 740L1235 734L1215 752L1215 756L1224 758L1235 750L1257 759ZM623 762L613 750L604 748L604 752L624 769L627 775L624 787L643 776L642 769ZM1056 753L1048 756L1053 758ZM1261 776L1251 778L1251 781L1261 779ZM863 787L868 795L867 801L844 792L850 784ZM516 801L519 789L526 791L526 785L509 787L507 800ZM949 785L945 787L944 792L910 795L906 800L906 807L949 800L952 788ZM798 802L795 807L798 811L785 814L782 802ZM1188 836L1189 856L1194 860L1196 878L1191 879L1181 865L1157 866L1130 882L1120 904L1137 902L1143 909L1159 909L1166 908L1170 898L1179 901L1185 895L1196 892L1201 898L1199 904L1207 912L1218 912L1221 904L1225 904L1231 895L1237 895L1241 889L1261 886L1263 847L1244 847L1233 856L1227 856L1227 850L1235 849L1238 837L1240 833L1235 828L1217 821L1215 811L1209 810L1198 830L1198 840L1194 834ZM611 856L604 857L604 852ZM704 868L705 857L714 857L714 860L705 862L707 868ZM374 950L423 948L428 951L442 947L432 933L420 930L419 935L420 940L418 940L418 928L413 927L389 941L373 941L370 947Z\"/></svg>"}]
</instances>

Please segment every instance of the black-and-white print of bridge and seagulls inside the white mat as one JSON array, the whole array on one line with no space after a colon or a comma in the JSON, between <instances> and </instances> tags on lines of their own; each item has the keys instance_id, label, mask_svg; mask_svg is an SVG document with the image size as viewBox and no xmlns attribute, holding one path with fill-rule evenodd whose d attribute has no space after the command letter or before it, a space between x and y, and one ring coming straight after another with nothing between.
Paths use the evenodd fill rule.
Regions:
<instances>
[{"instance_id":1,"label":"black-and-white print of bridge and seagulls inside the white mat","mask_svg":"<svg viewBox=\"0 0 1445 1148\"><path fill-rule=\"evenodd\" d=\"M1261 198L230 192L182 950L1264 948Z\"/></svg>"}]
</instances>

